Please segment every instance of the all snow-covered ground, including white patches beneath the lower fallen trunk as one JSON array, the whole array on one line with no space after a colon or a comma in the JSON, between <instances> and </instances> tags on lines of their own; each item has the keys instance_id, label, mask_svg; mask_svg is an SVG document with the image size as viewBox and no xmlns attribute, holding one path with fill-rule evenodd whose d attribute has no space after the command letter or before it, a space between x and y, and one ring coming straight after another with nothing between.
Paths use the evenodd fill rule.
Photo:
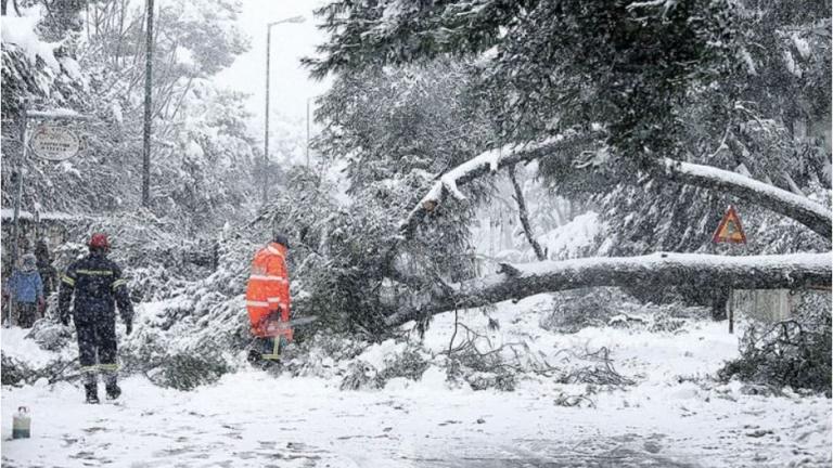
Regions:
<instances>
[{"instance_id":1,"label":"all snow-covered ground, including white patches beneath the lower fallen trunk","mask_svg":"<svg viewBox=\"0 0 833 468\"><path fill-rule=\"evenodd\" d=\"M726 323L683 333L538 326L548 298L503 303L491 315L495 346L523 339L534 352L607 347L616 369L637 381L565 407L585 386L522 379L513 392L449 387L430 366L420 381L342 391L339 378L223 376L192 392L144 377L124 380L119 404L81 403L74 385L2 390L3 467L822 467L831 465L831 401L747 394L740 382L706 378L738 353ZM461 313L486 332L478 311ZM453 316L432 323L428 351L448 348ZM11 333L10 333L11 332ZM30 347L3 330L3 351ZM360 359L381 365L392 342ZM39 350L29 350L40 356ZM41 359L41 358L37 358ZM556 361L551 361L556 364ZM695 382L696 381L696 382ZM10 440L12 414L31 408L33 437Z\"/></svg>"}]
</instances>

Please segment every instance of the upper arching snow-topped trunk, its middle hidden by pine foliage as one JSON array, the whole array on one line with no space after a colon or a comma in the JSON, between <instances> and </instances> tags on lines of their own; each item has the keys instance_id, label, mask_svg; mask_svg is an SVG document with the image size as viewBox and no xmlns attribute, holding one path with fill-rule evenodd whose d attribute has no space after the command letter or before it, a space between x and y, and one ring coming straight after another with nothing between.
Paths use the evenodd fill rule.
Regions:
<instances>
[{"instance_id":1,"label":"upper arching snow-topped trunk, its middle hidden by pine foliage","mask_svg":"<svg viewBox=\"0 0 833 468\"><path fill-rule=\"evenodd\" d=\"M458 199L465 199L459 187L478 177L496 173L499 169L517 162L552 156L564 150L595 141L598 138L599 134L595 133L551 138L541 142L508 145L501 150L485 152L443 174L408 213L400 224L400 231L405 238L412 238L427 212L436 209L448 194ZM576 168L576 170L581 169ZM657 159L652 176L733 195L794 219L828 240L833 237L833 217L829 209L807 197L755 179L712 166L682 162L670 158Z\"/></svg>"}]
</instances>

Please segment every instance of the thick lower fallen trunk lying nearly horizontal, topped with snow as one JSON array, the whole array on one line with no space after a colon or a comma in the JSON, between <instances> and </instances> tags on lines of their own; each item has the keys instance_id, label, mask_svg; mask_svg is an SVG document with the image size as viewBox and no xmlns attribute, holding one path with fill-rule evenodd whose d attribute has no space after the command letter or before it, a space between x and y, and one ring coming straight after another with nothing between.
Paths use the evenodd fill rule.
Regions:
<instances>
[{"instance_id":1,"label":"thick lower fallen trunk lying nearly horizontal, topped with snow","mask_svg":"<svg viewBox=\"0 0 833 468\"><path fill-rule=\"evenodd\" d=\"M781 289L830 286L833 256L791 253L729 257L653 253L640 257L586 258L524 265L501 264L498 274L449 285L431 298L386 318L388 326L456 308L480 307L541 292L601 286L694 286L701 288Z\"/></svg>"}]
</instances>

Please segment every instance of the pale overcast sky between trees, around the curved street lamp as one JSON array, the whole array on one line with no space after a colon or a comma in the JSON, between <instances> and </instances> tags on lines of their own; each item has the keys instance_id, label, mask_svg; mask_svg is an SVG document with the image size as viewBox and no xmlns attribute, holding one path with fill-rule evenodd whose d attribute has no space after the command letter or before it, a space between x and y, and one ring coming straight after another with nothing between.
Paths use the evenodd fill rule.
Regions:
<instances>
[{"instance_id":1,"label":"pale overcast sky between trees, around the curved street lamp","mask_svg":"<svg viewBox=\"0 0 833 468\"><path fill-rule=\"evenodd\" d=\"M285 23L272 27L270 106L275 112L295 118L306 116L307 98L324 92L329 82L318 82L300 66L298 60L315 53L324 41L316 28L312 10L324 0L242 0L240 26L252 38L252 49L217 76L217 81L231 89L252 94L248 108L255 122L262 128L266 94L266 25L303 15L302 24ZM270 127L272 127L270 122Z\"/></svg>"}]
</instances>

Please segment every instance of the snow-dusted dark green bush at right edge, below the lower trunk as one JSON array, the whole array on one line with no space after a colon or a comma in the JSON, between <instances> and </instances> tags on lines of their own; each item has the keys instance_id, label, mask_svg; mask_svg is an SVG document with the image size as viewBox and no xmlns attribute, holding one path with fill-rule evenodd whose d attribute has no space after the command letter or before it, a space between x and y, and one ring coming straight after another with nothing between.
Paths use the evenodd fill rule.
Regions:
<instances>
[{"instance_id":1,"label":"snow-dusted dark green bush at right edge, below the lower trunk","mask_svg":"<svg viewBox=\"0 0 833 468\"><path fill-rule=\"evenodd\" d=\"M805 292L791 320L753 324L740 344L741 356L718 376L752 384L790 386L831 394L831 303L829 295Z\"/></svg>"}]
</instances>

